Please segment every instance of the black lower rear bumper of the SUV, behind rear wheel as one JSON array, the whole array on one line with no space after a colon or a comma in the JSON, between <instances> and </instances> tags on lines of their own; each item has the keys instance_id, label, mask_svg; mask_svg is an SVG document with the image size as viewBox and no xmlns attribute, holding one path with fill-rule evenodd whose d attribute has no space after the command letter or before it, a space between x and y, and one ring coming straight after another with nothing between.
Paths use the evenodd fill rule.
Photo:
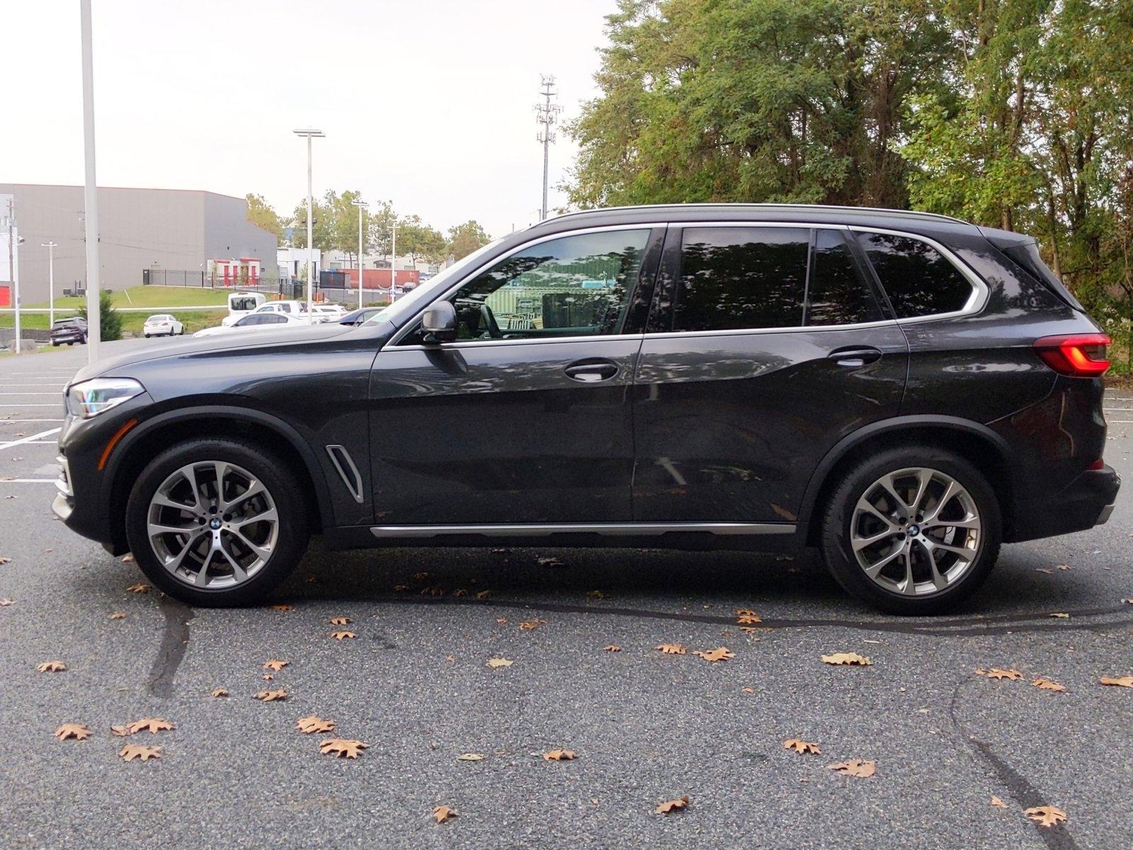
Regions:
<instances>
[{"instance_id":1,"label":"black lower rear bumper of the SUV, behind rear wheel","mask_svg":"<svg viewBox=\"0 0 1133 850\"><path fill-rule=\"evenodd\" d=\"M1121 476L1106 466L1088 469L1050 496L1021 501L1015 509L1013 534L1006 542L1054 537L1101 525L1113 513L1121 486Z\"/></svg>"}]
</instances>

